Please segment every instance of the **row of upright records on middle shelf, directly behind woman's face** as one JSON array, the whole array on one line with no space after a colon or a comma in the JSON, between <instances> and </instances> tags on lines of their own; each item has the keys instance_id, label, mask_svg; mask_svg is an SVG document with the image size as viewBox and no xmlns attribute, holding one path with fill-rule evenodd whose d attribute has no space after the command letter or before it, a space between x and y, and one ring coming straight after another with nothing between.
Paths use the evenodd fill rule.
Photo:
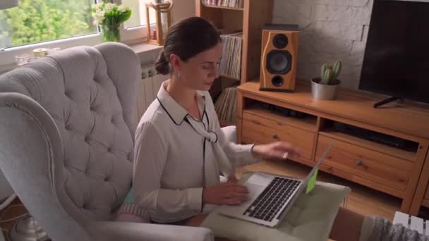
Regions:
<instances>
[{"instance_id":1,"label":"row of upright records on middle shelf, directly behind woman's face","mask_svg":"<svg viewBox=\"0 0 429 241\"><path fill-rule=\"evenodd\" d=\"M221 35L223 53L219 71L221 75L240 80L241 78L241 49L243 48L243 32Z\"/></svg>"}]
</instances>

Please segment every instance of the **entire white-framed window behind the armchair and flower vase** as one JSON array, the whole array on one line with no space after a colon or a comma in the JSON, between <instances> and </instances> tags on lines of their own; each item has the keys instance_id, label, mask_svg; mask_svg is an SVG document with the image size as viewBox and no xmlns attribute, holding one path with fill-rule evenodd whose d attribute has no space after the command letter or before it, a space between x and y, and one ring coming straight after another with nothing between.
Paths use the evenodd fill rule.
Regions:
<instances>
[{"instance_id":1,"label":"entire white-framed window behind the armchair and flower vase","mask_svg":"<svg viewBox=\"0 0 429 241\"><path fill-rule=\"evenodd\" d=\"M121 41L132 42L145 37L144 0L20 0L20 6L0 10L0 49L25 45L28 45L25 48L36 45L43 47L57 44L50 42L53 40L63 39L68 42L71 37L87 37L91 39L91 43L101 42L101 37L91 37L99 33L99 27L93 23L91 16L92 4L99 1L122 3L133 11L130 20L123 24ZM151 24L155 23L155 10L150 8L149 12ZM75 40L70 40L73 41ZM79 44L82 44L82 39ZM69 46L70 44L64 45Z\"/></svg>"}]
</instances>

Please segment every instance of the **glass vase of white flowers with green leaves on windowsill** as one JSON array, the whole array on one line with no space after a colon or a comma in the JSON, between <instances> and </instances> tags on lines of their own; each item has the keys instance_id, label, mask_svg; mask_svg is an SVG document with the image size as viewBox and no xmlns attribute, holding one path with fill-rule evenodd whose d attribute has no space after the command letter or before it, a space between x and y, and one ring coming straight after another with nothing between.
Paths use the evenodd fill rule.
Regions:
<instances>
[{"instance_id":1,"label":"glass vase of white flowers with green leaves on windowsill","mask_svg":"<svg viewBox=\"0 0 429 241\"><path fill-rule=\"evenodd\" d=\"M119 27L131 17L131 9L127 6L104 3L92 5L94 24L102 28L104 42L121 41Z\"/></svg>"}]
</instances>

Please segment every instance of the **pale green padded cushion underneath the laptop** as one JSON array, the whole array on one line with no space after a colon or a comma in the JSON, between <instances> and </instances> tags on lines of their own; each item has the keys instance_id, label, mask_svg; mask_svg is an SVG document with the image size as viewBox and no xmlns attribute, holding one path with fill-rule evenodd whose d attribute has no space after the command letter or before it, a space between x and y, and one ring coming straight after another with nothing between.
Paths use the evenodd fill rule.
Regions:
<instances>
[{"instance_id":1,"label":"pale green padded cushion underneath the laptop","mask_svg":"<svg viewBox=\"0 0 429 241\"><path fill-rule=\"evenodd\" d=\"M246 180L248 175L243 175ZM268 228L255 223L229 218L214 210L203 227L210 228L217 237L231 240L300 240L326 241L330 234L340 204L349 194L349 187L331 183L316 183L309 194L301 194L278 228Z\"/></svg>"}]
</instances>

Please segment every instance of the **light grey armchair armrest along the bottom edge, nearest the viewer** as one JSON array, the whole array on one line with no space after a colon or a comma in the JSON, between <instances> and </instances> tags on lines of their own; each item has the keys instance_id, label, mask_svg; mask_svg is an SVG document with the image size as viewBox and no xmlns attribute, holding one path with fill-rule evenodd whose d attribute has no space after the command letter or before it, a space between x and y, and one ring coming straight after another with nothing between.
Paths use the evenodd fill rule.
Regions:
<instances>
[{"instance_id":1,"label":"light grey armchair armrest along the bottom edge, nearest the viewer","mask_svg":"<svg viewBox=\"0 0 429 241\"><path fill-rule=\"evenodd\" d=\"M99 241L212 241L213 233L208 228L152 223L126 223L95 221L87 226L92 240Z\"/></svg>"}]
</instances>

